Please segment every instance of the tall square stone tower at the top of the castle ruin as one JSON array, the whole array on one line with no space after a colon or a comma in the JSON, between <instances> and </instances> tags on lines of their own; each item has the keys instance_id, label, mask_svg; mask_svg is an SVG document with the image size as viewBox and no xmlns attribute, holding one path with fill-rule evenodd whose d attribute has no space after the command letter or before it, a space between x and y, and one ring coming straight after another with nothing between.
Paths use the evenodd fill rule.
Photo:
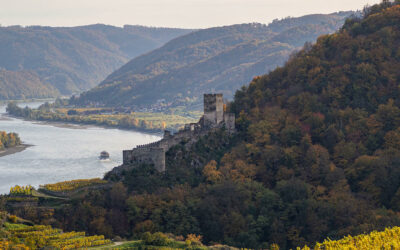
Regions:
<instances>
[{"instance_id":1,"label":"tall square stone tower at the top of the castle ruin","mask_svg":"<svg viewBox=\"0 0 400 250\"><path fill-rule=\"evenodd\" d=\"M204 126L216 127L224 121L222 94L204 94Z\"/></svg>"}]
</instances>

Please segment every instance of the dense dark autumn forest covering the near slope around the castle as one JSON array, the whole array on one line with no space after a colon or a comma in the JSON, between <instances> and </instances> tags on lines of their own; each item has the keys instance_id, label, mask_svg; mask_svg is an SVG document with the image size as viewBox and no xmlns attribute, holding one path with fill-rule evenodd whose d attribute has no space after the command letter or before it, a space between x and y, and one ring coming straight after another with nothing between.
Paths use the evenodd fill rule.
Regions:
<instances>
[{"instance_id":1,"label":"dense dark autumn forest covering the near slope around the castle","mask_svg":"<svg viewBox=\"0 0 400 250\"><path fill-rule=\"evenodd\" d=\"M256 77L228 106L237 133L210 133L151 165L108 174L46 215L65 230L281 249L400 225L400 2L384 1ZM1 207L0 207L1 209ZM49 208L50 209L50 208ZM51 208L52 209L52 208Z\"/></svg>"}]
</instances>

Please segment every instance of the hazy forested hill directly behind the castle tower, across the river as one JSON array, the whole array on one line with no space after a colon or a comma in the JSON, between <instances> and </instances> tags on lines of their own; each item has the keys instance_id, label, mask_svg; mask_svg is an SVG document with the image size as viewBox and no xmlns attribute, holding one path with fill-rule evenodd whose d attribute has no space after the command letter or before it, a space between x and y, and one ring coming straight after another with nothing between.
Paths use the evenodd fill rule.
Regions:
<instances>
[{"instance_id":1,"label":"hazy forested hill directly behind the castle tower, across the river","mask_svg":"<svg viewBox=\"0 0 400 250\"><path fill-rule=\"evenodd\" d=\"M305 42L336 31L351 14L199 30L131 60L76 103L149 107L164 101L167 106L188 107L200 104L202 94L210 91L232 98L255 75L282 65Z\"/></svg>"}]
</instances>

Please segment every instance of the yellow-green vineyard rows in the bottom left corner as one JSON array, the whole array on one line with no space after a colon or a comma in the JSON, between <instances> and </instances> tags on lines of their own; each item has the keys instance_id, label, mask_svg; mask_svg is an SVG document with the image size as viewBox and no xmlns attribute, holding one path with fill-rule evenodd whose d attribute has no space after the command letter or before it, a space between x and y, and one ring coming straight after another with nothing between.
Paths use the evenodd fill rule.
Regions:
<instances>
[{"instance_id":1,"label":"yellow-green vineyard rows in the bottom left corner","mask_svg":"<svg viewBox=\"0 0 400 250\"><path fill-rule=\"evenodd\" d=\"M111 244L103 235L86 236L85 232L64 233L51 226L4 224L9 237L0 241L0 249L78 249Z\"/></svg>"}]
</instances>

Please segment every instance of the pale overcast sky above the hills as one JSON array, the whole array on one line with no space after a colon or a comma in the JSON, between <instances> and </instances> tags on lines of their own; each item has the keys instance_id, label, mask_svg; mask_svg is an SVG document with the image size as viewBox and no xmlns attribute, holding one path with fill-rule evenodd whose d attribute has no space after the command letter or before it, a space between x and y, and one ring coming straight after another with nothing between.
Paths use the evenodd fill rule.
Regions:
<instances>
[{"instance_id":1,"label":"pale overcast sky above the hills","mask_svg":"<svg viewBox=\"0 0 400 250\"><path fill-rule=\"evenodd\" d=\"M205 28L362 9L380 0L0 0L0 24Z\"/></svg>"}]
</instances>

